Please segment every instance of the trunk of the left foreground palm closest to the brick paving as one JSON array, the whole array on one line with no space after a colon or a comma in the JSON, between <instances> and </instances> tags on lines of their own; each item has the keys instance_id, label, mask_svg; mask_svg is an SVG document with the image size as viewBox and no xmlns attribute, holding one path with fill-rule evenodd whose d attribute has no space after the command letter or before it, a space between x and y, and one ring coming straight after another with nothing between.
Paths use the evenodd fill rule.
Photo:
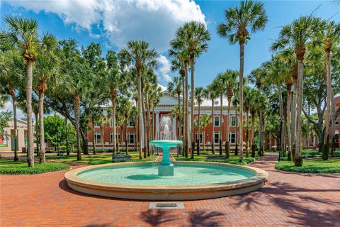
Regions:
<instances>
[{"instance_id":1,"label":"trunk of the left foreground palm closest to the brick paving","mask_svg":"<svg viewBox=\"0 0 340 227\"><path fill-rule=\"evenodd\" d=\"M28 167L34 167L34 143L33 143L33 121L32 121L32 84L33 84L33 62L26 61L27 65L27 84L26 84L26 99L27 99L27 160Z\"/></svg>"}]
</instances>

